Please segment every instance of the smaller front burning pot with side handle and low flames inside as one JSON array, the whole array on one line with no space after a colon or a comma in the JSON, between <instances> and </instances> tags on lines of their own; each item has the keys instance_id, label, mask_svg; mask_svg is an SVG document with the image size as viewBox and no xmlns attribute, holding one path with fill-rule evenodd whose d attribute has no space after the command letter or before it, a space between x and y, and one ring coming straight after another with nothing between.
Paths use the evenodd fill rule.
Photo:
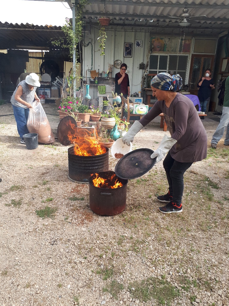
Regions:
<instances>
[{"instance_id":1,"label":"smaller front burning pot with side handle and low flames inside","mask_svg":"<svg viewBox=\"0 0 229 306\"><path fill-rule=\"evenodd\" d=\"M114 216L126 207L128 180L116 176L114 171L92 174L89 178L89 205L97 215Z\"/></svg>"}]
</instances>

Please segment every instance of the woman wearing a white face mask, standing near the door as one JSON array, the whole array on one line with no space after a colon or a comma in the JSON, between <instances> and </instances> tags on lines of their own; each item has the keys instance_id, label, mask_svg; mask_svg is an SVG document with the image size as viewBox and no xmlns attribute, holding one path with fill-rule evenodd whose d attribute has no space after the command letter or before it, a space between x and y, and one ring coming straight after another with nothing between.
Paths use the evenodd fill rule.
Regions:
<instances>
[{"instance_id":1,"label":"woman wearing a white face mask, standing near the door","mask_svg":"<svg viewBox=\"0 0 229 306\"><path fill-rule=\"evenodd\" d=\"M200 107L201 107L200 110L202 112L206 111L208 101L211 97L211 91L212 89L215 89L214 82L212 78L210 77L211 74L212 74L212 70L209 68L206 69L205 76L203 76L197 84L197 87L199 88L198 98L200 101ZM204 116L201 116L200 118L204 119Z\"/></svg>"}]
</instances>

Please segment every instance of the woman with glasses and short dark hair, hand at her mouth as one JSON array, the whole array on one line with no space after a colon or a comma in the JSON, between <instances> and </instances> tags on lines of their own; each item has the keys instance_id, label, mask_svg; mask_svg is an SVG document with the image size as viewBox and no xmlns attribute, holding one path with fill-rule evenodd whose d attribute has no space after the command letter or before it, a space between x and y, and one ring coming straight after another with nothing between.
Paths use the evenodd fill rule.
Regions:
<instances>
[{"instance_id":1,"label":"woman with glasses and short dark hair, hand at her mouth","mask_svg":"<svg viewBox=\"0 0 229 306\"><path fill-rule=\"evenodd\" d=\"M115 74L115 92L118 95L123 94L124 98L129 97L130 88L129 88L129 76L126 72L127 65L122 64L120 66L120 72Z\"/></svg>"}]
</instances>

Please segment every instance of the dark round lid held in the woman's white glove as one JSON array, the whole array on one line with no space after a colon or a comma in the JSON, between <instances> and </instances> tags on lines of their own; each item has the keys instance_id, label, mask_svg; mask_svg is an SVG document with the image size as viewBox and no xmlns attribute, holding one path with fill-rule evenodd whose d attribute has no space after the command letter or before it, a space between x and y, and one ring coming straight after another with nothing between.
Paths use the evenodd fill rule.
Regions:
<instances>
[{"instance_id":1,"label":"dark round lid held in the woman's white glove","mask_svg":"<svg viewBox=\"0 0 229 306\"><path fill-rule=\"evenodd\" d=\"M147 173L156 163L151 159L154 151L147 148L136 149L125 154L115 166L115 174L125 180L131 180Z\"/></svg>"}]
</instances>

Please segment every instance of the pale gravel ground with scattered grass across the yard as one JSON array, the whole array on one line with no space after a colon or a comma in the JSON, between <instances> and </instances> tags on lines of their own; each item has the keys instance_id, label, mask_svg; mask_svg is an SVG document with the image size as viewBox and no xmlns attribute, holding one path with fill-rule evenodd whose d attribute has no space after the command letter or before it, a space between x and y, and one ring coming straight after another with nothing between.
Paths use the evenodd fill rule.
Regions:
<instances>
[{"instance_id":1,"label":"pale gravel ground with scattered grass across the yard","mask_svg":"<svg viewBox=\"0 0 229 306\"><path fill-rule=\"evenodd\" d=\"M56 135L56 106L44 109ZM181 214L158 211L156 196L168 188L160 162L129 180L122 214L101 217L89 208L88 185L67 178L67 147L56 141L27 150L11 104L0 114L1 306L229 305L222 141L186 172ZM159 121L136 135L133 148L158 147ZM202 123L210 143L218 122ZM115 164L109 153L109 169ZM45 207L49 218L38 216Z\"/></svg>"}]
</instances>

